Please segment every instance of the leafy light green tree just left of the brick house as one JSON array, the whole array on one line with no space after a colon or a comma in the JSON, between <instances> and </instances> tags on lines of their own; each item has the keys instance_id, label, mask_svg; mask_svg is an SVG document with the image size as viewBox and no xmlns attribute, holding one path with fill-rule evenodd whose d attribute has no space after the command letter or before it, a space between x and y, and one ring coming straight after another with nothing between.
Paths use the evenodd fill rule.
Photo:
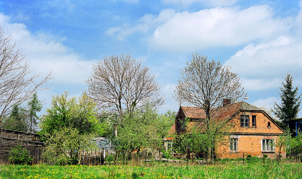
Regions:
<instances>
[{"instance_id":1,"label":"leafy light green tree just left of the brick house","mask_svg":"<svg viewBox=\"0 0 302 179\"><path fill-rule=\"evenodd\" d=\"M137 154L141 148L163 150L162 137L167 136L169 128L173 125L174 114L168 112L159 115L157 111L147 107L143 112L126 113L123 123L117 125L115 150L120 152L124 161L134 149L138 149Z\"/></svg>"}]
</instances>

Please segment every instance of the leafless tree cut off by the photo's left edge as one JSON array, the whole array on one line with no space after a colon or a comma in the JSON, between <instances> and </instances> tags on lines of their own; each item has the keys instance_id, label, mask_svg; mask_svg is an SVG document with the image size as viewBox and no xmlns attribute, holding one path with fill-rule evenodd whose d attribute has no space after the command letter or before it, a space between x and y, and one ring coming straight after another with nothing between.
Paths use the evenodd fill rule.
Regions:
<instances>
[{"instance_id":1,"label":"leafless tree cut off by the photo's left edge","mask_svg":"<svg viewBox=\"0 0 302 179\"><path fill-rule=\"evenodd\" d=\"M29 66L25 55L16 49L12 36L0 27L0 126L15 105L29 100L38 90L45 89L51 73L41 77Z\"/></svg>"}]
</instances>

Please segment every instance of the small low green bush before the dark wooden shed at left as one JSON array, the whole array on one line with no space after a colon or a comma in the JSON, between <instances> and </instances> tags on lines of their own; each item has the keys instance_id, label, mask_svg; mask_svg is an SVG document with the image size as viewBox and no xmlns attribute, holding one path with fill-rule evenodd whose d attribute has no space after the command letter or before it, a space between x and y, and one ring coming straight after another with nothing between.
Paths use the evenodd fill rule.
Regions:
<instances>
[{"instance_id":1,"label":"small low green bush before the dark wooden shed at left","mask_svg":"<svg viewBox=\"0 0 302 179\"><path fill-rule=\"evenodd\" d=\"M22 165L30 164L33 160L26 148L22 148L19 145L11 149L10 156L8 158L13 164Z\"/></svg>"}]
</instances>

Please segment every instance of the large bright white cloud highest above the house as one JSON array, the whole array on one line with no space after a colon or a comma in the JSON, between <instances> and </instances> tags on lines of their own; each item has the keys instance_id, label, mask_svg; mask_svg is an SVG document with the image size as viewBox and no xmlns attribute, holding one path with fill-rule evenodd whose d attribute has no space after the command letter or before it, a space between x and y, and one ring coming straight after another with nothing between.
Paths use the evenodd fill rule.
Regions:
<instances>
[{"instance_id":1,"label":"large bright white cloud highest above the house","mask_svg":"<svg viewBox=\"0 0 302 179\"><path fill-rule=\"evenodd\" d=\"M248 9L214 8L176 13L154 32L159 49L194 51L217 46L238 46L288 32L290 19L276 19L268 6Z\"/></svg>"}]
</instances>

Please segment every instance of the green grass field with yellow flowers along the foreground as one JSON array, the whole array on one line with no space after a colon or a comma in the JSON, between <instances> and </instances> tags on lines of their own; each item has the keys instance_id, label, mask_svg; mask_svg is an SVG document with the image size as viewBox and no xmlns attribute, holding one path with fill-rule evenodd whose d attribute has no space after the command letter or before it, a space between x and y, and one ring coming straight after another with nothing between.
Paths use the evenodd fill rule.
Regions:
<instances>
[{"instance_id":1,"label":"green grass field with yellow flowers along the foreground","mask_svg":"<svg viewBox=\"0 0 302 179\"><path fill-rule=\"evenodd\" d=\"M213 165L0 165L0 178L302 178L301 163L219 163Z\"/></svg>"}]
</instances>

